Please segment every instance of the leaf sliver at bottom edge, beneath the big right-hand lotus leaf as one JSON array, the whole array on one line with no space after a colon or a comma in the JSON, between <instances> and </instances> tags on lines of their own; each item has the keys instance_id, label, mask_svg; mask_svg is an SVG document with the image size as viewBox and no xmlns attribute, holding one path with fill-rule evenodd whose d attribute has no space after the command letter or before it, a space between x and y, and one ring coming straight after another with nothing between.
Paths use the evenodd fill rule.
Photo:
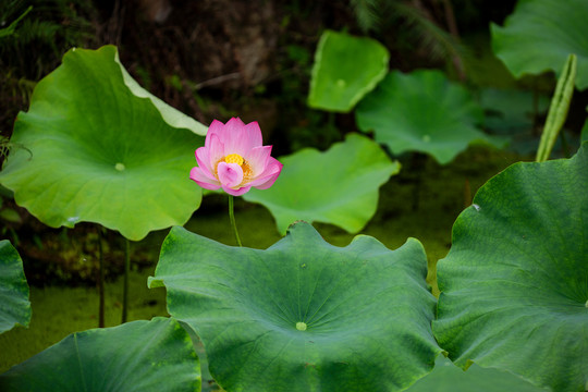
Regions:
<instances>
[{"instance_id":1,"label":"leaf sliver at bottom edge, beneath the big right-hand lotus leaf","mask_svg":"<svg viewBox=\"0 0 588 392\"><path fill-rule=\"evenodd\" d=\"M440 355L434 369L414 383L406 392L547 392L507 371L485 369L476 364L467 371Z\"/></svg>"}]
</instances>

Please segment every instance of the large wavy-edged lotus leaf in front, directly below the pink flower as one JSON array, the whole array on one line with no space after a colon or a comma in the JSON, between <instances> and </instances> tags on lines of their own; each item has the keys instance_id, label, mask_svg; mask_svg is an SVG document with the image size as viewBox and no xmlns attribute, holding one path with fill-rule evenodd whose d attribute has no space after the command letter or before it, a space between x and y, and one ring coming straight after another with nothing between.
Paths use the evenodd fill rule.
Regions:
<instances>
[{"instance_id":1,"label":"large wavy-edged lotus leaf in front, directly below the pink flower","mask_svg":"<svg viewBox=\"0 0 588 392\"><path fill-rule=\"evenodd\" d=\"M266 250L173 228L151 287L200 336L226 391L396 391L437 354L422 245L326 243L305 222Z\"/></svg>"}]
</instances>

